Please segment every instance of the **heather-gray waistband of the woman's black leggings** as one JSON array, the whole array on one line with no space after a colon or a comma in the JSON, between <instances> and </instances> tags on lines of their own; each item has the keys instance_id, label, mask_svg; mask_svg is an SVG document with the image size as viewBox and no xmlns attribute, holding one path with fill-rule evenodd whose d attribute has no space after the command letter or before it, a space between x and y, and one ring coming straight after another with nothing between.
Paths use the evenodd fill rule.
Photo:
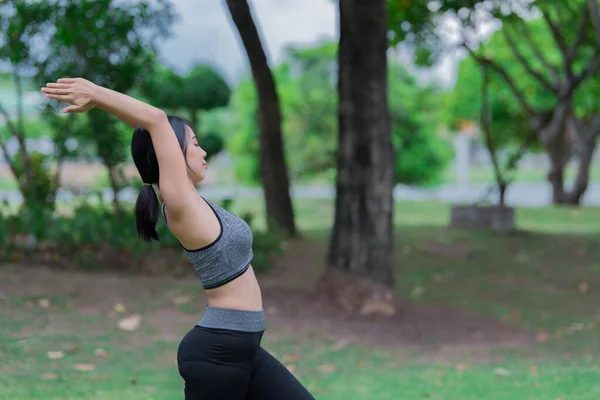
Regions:
<instances>
[{"instance_id":1,"label":"heather-gray waistband of the woman's black leggings","mask_svg":"<svg viewBox=\"0 0 600 400\"><path fill-rule=\"evenodd\" d=\"M263 332L265 312L263 310L237 310L206 306L198 326L212 329L229 329L242 332Z\"/></svg>"}]
</instances>

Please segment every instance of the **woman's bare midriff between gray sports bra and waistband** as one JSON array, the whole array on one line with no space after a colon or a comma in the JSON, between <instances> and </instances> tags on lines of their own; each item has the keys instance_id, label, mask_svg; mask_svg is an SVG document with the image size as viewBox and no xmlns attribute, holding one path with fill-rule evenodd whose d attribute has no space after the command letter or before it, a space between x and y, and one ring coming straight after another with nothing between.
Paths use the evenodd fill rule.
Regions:
<instances>
[{"instance_id":1,"label":"woman's bare midriff between gray sports bra and waistband","mask_svg":"<svg viewBox=\"0 0 600 400\"><path fill-rule=\"evenodd\" d=\"M248 311L261 311L263 307L260 286L252 266L231 282L208 289L205 293L210 307Z\"/></svg>"}]
</instances>

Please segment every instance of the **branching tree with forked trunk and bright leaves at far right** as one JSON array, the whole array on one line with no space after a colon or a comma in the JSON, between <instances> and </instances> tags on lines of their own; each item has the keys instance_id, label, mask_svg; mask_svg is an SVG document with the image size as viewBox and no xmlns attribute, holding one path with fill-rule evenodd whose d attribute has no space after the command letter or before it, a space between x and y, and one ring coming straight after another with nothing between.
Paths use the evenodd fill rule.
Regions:
<instances>
[{"instance_id":1,"label":"branching tree with forked trunk and bright leaves at far right","mask_svg":"<svg viewBox=\"0 0 600 400\"><path fill-rule=\"evenodd\" d=\"M430 12L416 10L416 6L393 2L394 15L417 14L415 24L402 24L395 19L391 27L397 33L398 40L418 44L427 55L439 54L447 46L436 34L438 22L452 19L460 26L459 45L467 50L480 65L487 65L502 77L525 111L539 142L548 153L551 168L548 180L553 188L554 203L576 204L585 192L586 171L595 146L596 132L600 123L580 124L587 126L586 132L573 123L573 101L576 92L584 81L592 77L600 68L600 13L596 0L577 0L570 2L548 2L543 0L530 2L506 1L447 1L433 6ZM408 8L409 11L406 9ZM434 11L431 11L434 10ZM539 14L539 18L532 16ZM483 23L501 22L504 47L508 53L498 54L490 51L480 39L479 29ZM517 40L517 37L522 40ZM549 37L552 46L541 46L540 38ZM497 39L500 40L500 39ZM500 55L500 57L498 57ZM510 60L510 64L503 63ZM431 61L431 58L430 58ZM511 75L507 65L515 64L523 74L535 82L533 87L523 87L520 75ZM539 104L532 101L530 92L550 94L553 101ZM534 98L535 99L535 98ZM568 129L570 125L570 129ZM594 137L594 139L590 139ZM573 143L579 146L573 147ZM564 168L572 157L573 151L579 152L578 178L571 191L564 187ZM587 163L587 164L586 164ZM584 183L585 181L585 183Z\"/></svg>"}]
</instances>

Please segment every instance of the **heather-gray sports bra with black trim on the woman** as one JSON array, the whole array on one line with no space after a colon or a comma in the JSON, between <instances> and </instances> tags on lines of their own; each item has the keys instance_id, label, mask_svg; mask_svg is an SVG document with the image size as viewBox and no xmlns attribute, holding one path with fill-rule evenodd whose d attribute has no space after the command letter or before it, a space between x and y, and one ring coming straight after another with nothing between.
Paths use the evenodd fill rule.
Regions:
<instances>
[{"instance_id":1,"label":"heather-gray sports bra with black trim on the woman","mask_svg":"<svg viewBox=\"0 0 600 400\"><path fill-rule=\"evenodd\" d=\"M189 250L179 244L187 253L188 260L198 273L205 289L214 289L231 282L242 275L250 266L252 252L252 230L242 218L212 204L204 197L219 220L221 232L217 239L196 250ZM162 213L165 214L165 203Z\"/></svg>"}]
</instances>

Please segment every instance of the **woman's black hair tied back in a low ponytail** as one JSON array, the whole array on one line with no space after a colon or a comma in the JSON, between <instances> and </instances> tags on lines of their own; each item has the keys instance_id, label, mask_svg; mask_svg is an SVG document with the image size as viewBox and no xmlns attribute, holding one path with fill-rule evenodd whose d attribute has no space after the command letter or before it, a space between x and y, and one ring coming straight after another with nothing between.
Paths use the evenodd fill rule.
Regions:
<instances>
[{"instance_id":1,"label":"woman's black hair tied back in a low ponytail","mask_svg":"<svg viewBox=\"0 0 600 400\"><path fill-rule=\"evenodd\" d=\"M186 126L191 124L183 118L168 116L169 123L175 132L181 151L185 157L187 146ZM144 182L135 203L135 226L139 237L147 242L158 239L156 223L158 222L159 201L152 185L158 184L159 168L156 152L150 133L141 127L136 127L131 138L131 156Z\"/></svg>"}]
</instances>

